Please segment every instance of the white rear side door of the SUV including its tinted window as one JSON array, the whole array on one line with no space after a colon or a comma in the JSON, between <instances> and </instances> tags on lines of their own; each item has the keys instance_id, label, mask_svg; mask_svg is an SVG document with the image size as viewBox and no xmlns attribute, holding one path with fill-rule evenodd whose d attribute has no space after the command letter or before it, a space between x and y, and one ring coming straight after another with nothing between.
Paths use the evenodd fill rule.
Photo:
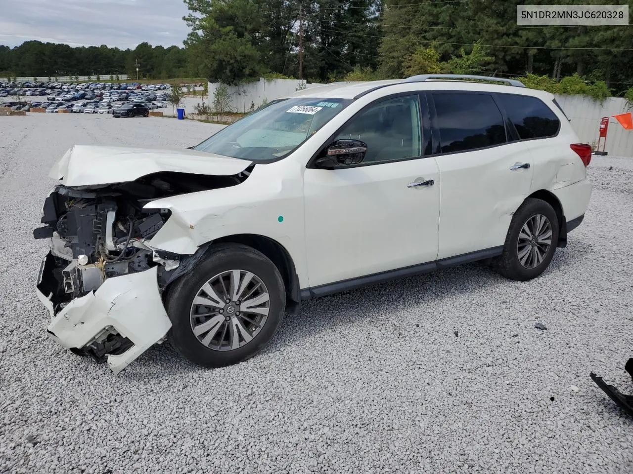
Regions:
<instances>
[{"instance_id":1,"label":"white rear side door of the SUV including its tinted window","mask_svg":"<svg viewBox=\"0 0 633 474\"><path fill-rule=\"evenodd\" d=\"M436 91L427 97L439 142L437 258L494 253L504 245L512 215L529 195L534 171L530 152L494 94Z\"/></svg>"}]
</instances>

